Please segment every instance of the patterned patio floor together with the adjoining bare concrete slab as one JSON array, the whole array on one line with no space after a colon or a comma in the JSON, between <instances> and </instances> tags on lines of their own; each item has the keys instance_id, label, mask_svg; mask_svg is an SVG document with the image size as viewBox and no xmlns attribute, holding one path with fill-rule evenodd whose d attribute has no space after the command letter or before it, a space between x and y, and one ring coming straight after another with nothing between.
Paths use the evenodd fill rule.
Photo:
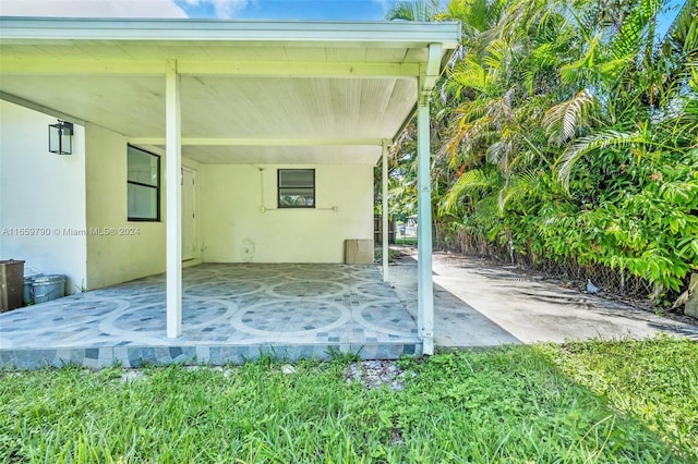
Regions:
<instances>
[{"instance_id":1,"label":"patterned patio floor together with the adjoining bare concrete slab","mask_svg":"<svg viewBox=\"0 0 698 464\"><path fill-rule=\"evenodd\" d=\"M15 309L0 314L0 367L419 356L417 261L402 253L389 284L371 265L186 268L179 339L165 335L164 276ZM698 340L696 325L472 258L435 253L433 269L438 350L658 333Z\"/></svg>"}]
</instances>

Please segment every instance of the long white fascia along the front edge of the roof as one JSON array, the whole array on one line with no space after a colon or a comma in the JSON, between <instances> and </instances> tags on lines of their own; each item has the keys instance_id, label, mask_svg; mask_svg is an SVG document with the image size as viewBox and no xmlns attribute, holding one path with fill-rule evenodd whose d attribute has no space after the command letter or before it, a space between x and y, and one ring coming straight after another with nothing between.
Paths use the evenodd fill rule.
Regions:
<instances>
[{"instance_id":1,"label":"long white fascia along the front edge of the roof","mask_svg":"<svg viewBox=\"0 0 698 464\"><path fill-rule=\"evenodd\" d=\"M148 40L359 44L405 46L438 42L455 48L460 24L450 22L258 22L219 20L94 20L0 16L0 40Z\"/></svg>"}]
</instances>

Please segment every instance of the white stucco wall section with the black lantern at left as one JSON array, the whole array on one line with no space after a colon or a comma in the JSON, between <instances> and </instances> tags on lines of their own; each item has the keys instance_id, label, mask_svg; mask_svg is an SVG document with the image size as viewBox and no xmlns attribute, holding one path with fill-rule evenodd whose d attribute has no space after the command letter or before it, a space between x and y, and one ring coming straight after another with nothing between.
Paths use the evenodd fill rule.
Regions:
<instances>
[{"instance_id":1,"label":"white stucco wall section with the black lantern at left","mask_svg":"<svg viewBox=\"0 0 698 464\"><path fill-rule=\"evenodd\" d=\"M48 151L57 119L0 100L0 259L25 260L25 274L86 283L85 142L75 125L72 155Z\"/></svg>"}]
</instances>

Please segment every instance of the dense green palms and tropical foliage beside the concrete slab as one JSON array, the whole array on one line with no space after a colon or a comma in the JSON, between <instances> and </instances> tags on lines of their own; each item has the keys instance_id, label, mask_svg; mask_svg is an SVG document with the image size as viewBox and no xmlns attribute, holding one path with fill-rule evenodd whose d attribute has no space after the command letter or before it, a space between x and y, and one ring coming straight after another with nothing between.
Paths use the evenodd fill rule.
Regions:
<instances>
[{"instance_id":1,"label":"dense green palms and tropical foliage beside the concrete slab","mask_svg":"<svg viewBox=\"0 0 698 464\"><path fill-rule=\"evenodd\" d=\"M682 290L698 271L696 0L410 5L389 17L464 25L432 101L441 244L642 282L657 301Z\"/></svg>"}]
</instances>

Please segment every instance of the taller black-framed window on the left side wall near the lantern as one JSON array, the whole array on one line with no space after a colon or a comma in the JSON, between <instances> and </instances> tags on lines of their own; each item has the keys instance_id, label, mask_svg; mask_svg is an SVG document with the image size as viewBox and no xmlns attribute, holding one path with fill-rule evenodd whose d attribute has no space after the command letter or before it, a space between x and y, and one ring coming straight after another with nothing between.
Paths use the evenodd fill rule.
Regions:
<instances>
[{"instance_id":1,"label":"taller black-framed window on the left side wall near the lantern","mask_svg":"<svg viewBox=\"0 0 698 464\"><path fill-rule=\"evenodd\" d=\"M130 221L160 220L160 157L128 148L128 202Z\"/></svg>"}]
</instances>

